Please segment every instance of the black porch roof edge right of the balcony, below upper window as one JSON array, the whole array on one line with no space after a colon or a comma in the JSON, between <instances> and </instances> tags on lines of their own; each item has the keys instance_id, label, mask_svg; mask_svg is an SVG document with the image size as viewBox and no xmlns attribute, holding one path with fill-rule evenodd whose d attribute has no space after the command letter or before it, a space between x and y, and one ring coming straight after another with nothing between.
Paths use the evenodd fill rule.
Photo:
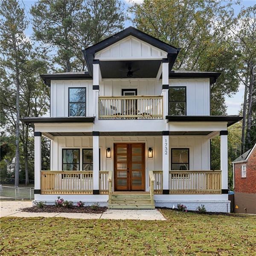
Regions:
<instances>
[{"instance_id":1,"label":"black porch roof edge right of the balcony, below upper window","mask_svg":"<svg viewBox=\"0 0 256 256\"><path fill-rule=\"evenodd\" d=\"M233 125L243 119L242 116L166 116L168 122L227 122Z\"/></svg>"}]
</instances>

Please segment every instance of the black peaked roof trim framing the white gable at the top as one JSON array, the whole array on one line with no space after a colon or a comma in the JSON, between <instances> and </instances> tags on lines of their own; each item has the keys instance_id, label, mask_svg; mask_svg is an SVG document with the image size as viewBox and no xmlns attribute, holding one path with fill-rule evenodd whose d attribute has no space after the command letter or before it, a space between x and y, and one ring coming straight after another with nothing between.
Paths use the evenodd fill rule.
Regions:
<instances>
[{"instance_id":1,"label":"black peaked roof trim framing the white gable at the top","mask_svg":"<svg viewBox=\"0 0 256 256\"><path fill-rule=\"evenodd\" d=\"M106 38L103 41L100 41L97 44L94 44L90 47L87 47L86 49L82 50L84 54L85 61L87 63L87 68L89 71L89 74L92 76L93 74L93 58L95 52L99 52L102 49L105 49L106 47L110 46L111 44L115 44L116 42L122 40L123 38L128 37L129 35L132 35L148 44L153 45L154 47L157 47L159 49L162 49L163 51L167 52L167 58L169 59L169 70L172 69L172 66L175 62L175 59L177 58L178 53L180 52L180 48L173 47L170 44L166 44L165 42L154 38L151 35L148 35L139 29L135 29L132 26L129 26L128 28L116 33L115 35L112 35L109 38Z\"/></svg>"}]
</instances>

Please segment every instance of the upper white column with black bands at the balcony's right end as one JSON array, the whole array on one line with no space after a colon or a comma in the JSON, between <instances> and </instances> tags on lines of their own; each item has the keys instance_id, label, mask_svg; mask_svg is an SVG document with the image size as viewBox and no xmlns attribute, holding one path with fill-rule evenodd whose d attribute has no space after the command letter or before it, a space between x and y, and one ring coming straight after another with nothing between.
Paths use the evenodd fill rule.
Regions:
<instances>
[{"instance_id":1,"label":"upper white column with black bands at the balcony's right end","mask_svg":"<svg viewBox=\"0 0 256 256\"><path fill-rule=\"evenodd\" d=\"M169 92L169 62L167 58L162 60L162 95L163 95L163 117L168 116L168 92ZM166 119L165 119L166 120ZM167 123L167 120L166 120Z\"/></svg>"}]
</instances>

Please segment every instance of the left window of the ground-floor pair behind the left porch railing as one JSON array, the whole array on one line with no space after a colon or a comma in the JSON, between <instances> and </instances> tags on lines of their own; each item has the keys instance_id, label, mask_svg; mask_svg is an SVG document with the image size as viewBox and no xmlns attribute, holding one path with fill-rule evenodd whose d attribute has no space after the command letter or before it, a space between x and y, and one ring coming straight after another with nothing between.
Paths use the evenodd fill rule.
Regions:
<instances>
[{"instance_id":1,"label":"left window of the ground-floor pair behind the left porch railing","mask_svg":"<svg viewBox=\"0 0 256 256\"><path fill-rule=\"evenodd\" d=\"M79 171L80 167L80 150L79 149L62 149L62 171Z\"/></svg>"}]
</instances>

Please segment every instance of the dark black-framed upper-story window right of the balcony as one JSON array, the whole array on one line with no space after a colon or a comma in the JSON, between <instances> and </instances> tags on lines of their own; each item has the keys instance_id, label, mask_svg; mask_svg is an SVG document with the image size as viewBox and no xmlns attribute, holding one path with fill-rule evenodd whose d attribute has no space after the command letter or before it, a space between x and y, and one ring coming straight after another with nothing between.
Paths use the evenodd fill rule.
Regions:
<instances>
[{"instance_id":1,"label":"dark black-framed upper-story window right of the balcony","mask_svg":"<svg viewBox=\"0 0 256 256\"><path fill-rule=\"evenodd\" d=\"M169 116L186 115L186 87L169 87Z\"/></svg>"}]
</instances>

